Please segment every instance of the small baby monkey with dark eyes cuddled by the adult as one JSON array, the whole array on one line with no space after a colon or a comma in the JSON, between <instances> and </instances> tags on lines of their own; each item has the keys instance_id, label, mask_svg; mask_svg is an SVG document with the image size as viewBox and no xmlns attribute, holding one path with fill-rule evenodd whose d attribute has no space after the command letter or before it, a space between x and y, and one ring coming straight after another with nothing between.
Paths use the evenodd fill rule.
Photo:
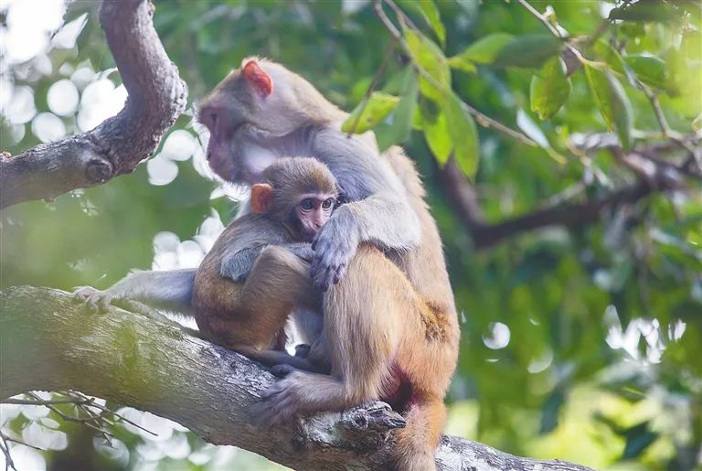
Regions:
<instances>
[{"instance_id":1,"label":"small baby monkey with dark eyes cuddled by the adult","mask_svg":"<svg viewBox=\"0 0 702 471\"><path fill-rule=\"evenodd\" d=\"M301 274L309 273L310 242L335 209L335 178L310 157L278 160L261 177L250 190L251 212L229 224L197 268L192 314L207 338L250 359L324 371L324 359L317 366L280 350L294 307L321 310L320 294ZM291 284L278 284L285 273L297 276ZM131 284L130 277L113 286L112 294L121 284ZM76 295L91 304L106 301L91 288Z\"/></svg>"}]
</instances>

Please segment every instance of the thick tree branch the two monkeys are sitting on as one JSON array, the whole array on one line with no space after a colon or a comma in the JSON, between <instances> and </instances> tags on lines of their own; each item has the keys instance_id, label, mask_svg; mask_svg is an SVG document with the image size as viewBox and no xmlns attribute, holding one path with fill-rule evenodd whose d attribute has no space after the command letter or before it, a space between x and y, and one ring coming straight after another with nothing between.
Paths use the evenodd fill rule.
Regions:
<instances>
[{"instance_id":1,"label":"thick tree branch the two monkeys are sitting on","mask_svg":"<svg viewBox=\"0 0 702 471\"><path fill-rule=\"evenodd\" d=\"M113 307L90 314L69 294L19 287L0 293L0 401L24 391L80 390L182 423L207 442L233 444L305 470L386 469L401 417L376 402L275 430L248 424L273 378L249 359L171 324ZM441 470L573 470L562 461L507 455L444 436Z\"/></svg>"}]
</instances>

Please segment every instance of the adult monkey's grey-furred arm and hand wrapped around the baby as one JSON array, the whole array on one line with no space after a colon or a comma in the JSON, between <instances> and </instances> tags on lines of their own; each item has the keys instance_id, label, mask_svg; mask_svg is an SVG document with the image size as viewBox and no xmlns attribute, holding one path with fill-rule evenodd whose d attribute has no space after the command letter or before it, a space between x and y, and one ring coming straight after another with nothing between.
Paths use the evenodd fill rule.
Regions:
<instances>
[{"instance_id":1,"label":"adult monkey's grey-furred arm and hand wrapped around the baby","mask_svg":"<svg viewBox=\"0 0 702 471\"><path fill-rule=\"evenodd\" d=\"M419 216L386 159L331 129L315 134L312 144L313 155L320 155L351 200L335 210L313 243L312 276L317 287L326 290L341 279L359 242L373 243L383 251L419 246Z\"/></svg>"}]
</instances>

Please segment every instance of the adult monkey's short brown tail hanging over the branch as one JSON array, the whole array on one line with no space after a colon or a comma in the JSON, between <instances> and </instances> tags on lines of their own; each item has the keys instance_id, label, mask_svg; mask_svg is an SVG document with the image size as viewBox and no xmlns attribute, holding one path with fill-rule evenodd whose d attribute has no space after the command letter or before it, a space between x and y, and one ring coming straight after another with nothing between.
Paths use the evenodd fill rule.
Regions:
<instances>
[{"instance_id":1,"label":"adult monkey's short brown tail hanging over the branch","mask_svg":"<svg viewBox=\"0 0 702 471\"><path fill-rule=\"evenodd\" d=\"M407 425L398 430L397 471L435 471L434 455L446 421L441 399L413 402L404 414Z\"/></svg>"}]
</instances>

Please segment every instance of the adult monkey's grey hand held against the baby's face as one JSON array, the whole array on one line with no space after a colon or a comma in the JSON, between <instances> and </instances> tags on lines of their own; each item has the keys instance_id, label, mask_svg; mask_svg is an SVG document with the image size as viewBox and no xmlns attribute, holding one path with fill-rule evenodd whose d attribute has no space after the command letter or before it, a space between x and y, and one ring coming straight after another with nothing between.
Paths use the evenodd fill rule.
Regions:
<instances>
[{"instance_id":1,"label":"adult monkey's grey hand held against the baby's face","mask_svg":"<svg viewBox=\"0 0 702 471\"><path fill-rule=\"evenodd\" d=\"M339 283L356 255L359 239L358 228L351 219L332 217L324 224L312 242L314 260L310 274L315 287L326 291Z\"/></svg>"}]
</instances>

